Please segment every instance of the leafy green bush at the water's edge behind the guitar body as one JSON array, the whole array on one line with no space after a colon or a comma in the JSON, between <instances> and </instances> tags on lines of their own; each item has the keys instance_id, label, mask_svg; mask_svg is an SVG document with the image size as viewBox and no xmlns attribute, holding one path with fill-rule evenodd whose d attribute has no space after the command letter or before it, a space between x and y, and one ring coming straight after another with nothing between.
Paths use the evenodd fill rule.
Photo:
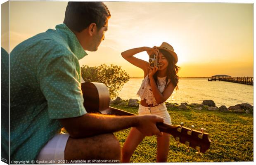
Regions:
<instances>
[{"instance_id":1,"label":"leafy green bush at the water's edge behind the guitar body","mask_svg":"<svg viewBox=\"0 0 256 165\"><path fill-rule=\"evenodd\" d=\"M102 82L109 90L111 99L117 97L123 85L129 81L130 76L121 66L111 64L107 66L102 64L100 66L86 66L81 67L81 76L85 82Z\"/></svg>"}]
</instances>

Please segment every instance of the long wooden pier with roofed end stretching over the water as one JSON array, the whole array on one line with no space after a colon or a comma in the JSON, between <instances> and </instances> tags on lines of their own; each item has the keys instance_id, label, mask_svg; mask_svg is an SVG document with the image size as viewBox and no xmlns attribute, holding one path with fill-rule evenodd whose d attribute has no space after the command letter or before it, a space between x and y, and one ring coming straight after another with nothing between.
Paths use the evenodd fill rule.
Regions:
<instances>
[{"instance_id":1,"label":"long wooden pier with roofed end stretching over the water","mask_svg":"<svg viewBox=\"0 0 256 165\"><path fill-rule=\"evenodd\" d=\"M231 77L230 75L213 75L208 81L227 81L239 84L254 85L253 77Z\"/></svg>"}]
</instances>

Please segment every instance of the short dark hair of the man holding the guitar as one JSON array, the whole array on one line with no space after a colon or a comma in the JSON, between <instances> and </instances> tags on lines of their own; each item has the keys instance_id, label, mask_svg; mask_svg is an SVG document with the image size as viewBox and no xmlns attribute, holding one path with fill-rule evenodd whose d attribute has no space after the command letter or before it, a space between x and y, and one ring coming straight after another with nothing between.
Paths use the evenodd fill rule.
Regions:
<instances>
[{"instance_id":1,"label":"short dark hair of the man holding the guitar","mask_svg":"<svg viewBox=\"0 0 256 165\"><path fill-rule=\"evenodd\" d=\"M110 16L103 2L68 2L63 23L76 32L83 31L92 23L100 30Z\"/></svg>"}]
</instances>

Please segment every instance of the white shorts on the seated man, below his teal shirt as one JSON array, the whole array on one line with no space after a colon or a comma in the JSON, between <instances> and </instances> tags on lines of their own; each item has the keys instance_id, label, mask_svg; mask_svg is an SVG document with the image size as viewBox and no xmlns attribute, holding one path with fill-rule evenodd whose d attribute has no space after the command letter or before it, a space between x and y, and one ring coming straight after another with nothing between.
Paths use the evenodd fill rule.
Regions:
<instances>
[{"instance_id":1,"label":"white shorts on the seated man, below his teal shirt","mask_svg":"<svg viewBox=\"0 0 256 165\"><path fill-rule=\"evenodd\" d=\"M66 142L69 139L69 134L56 134L52 139L50 139L47 144L41 149L37 156L37 160L40 161L53 161L55 163L63 163L64 153L66 148ZM62 161L59 161L62 160ZM44 163L45 164L45 163Z\"/></svg>"}]
</instances>

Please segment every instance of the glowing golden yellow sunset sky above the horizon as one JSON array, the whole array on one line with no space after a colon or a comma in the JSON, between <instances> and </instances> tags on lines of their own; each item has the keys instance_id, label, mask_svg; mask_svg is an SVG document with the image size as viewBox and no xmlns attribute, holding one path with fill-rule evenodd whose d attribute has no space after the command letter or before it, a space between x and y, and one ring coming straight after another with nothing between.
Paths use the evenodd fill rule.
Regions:
<instances>
[{"instance_id":1,"label":"glowing golden yellow sunset sky above the horizon","mask_svg":"<svg viewBox=\"0 0 256 165\"><path fill-rule=\"evenodd\" d=\"M124 60L121 52L160 46L164 41L178 54L180 77L253 76L252 3L104 3L111 12L109 30L97 52L87 51L81 66L116 64L130 77L142 77L142 71ZM62 1L11 1L10 50L62 24L66 5ZM145 52L136 57L148 60Z\"/></svg>"}]
</instances>

